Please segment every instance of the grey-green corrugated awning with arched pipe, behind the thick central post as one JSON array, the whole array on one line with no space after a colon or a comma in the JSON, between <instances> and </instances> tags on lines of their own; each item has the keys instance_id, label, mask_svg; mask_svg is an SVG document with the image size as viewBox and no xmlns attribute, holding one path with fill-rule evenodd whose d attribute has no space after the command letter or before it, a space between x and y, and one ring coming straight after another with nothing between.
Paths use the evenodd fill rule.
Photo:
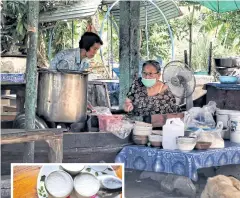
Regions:
<instances>
[{"instance_id":1,"label":"grey-green corrugated awning with arched pipe, behind the thick central post","mask_svg":"<svg viewBox=\"0 0 240 198\"><path fill-rule=\"evenodd\" d=\"M115 1L104 0L102 4L108 4L110 6L114 2ZM172 0L169 0L169 1L153 0L153 2L160 8L160 10L163 12L163 14L168 20L182 15L179 7ZM152 23L165 23L164 17L159 12L159 10L149 1L145 0L145 1L141 1L141 4L140 4L140 26L145 26L146 24L146 9L148 13L147 15L148 25ZM119 3L113 7L111 14L114 16L116 22L119 24L119 20L120 20Z\"/></svg>"}]
</instances>

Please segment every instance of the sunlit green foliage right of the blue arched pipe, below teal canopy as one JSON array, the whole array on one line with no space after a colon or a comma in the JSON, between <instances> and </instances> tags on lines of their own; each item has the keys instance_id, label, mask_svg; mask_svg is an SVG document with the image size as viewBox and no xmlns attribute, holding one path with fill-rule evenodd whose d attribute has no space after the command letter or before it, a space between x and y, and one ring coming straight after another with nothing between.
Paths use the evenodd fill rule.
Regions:
<instances>
[{"instance_id":1,"label":"sunlit green foliage right of the blue arched pipe, below teal canopy","mask_svg":"<svg viewBox=\"0 0 240 198\"><path fill-rule=\"evenodd\" d=\"M213 57L234 56L240 53L239 11L218 14L202 7L195 8L194 15L191 15L193 6L189 4L187 7L181 7L181 10L184 16L171 21L176 54L183 58L183 51L188 50L189 23L192 22L192 67L195 71L207 70L210 41L213 42Z\"/></svg>"}]
</instances>

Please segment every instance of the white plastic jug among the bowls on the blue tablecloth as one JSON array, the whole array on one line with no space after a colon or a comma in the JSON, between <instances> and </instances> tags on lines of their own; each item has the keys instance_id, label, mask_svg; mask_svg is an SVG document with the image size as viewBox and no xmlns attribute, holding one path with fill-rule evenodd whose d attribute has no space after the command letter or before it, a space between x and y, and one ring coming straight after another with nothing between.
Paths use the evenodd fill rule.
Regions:
<instances>
[{"instance_id":1,"label":"white plastic jug among the bowls on the blue tablecloth","mask_svg":"<svg viewBox=\"0 0 240 198\"><path fill-rule=\"evenodd\" d=\"M180 118L167 119L166 124L163 126L163 148L169 150L178 149L178 136L184 136L184 123Z\"/></svg>"}]
</instances>

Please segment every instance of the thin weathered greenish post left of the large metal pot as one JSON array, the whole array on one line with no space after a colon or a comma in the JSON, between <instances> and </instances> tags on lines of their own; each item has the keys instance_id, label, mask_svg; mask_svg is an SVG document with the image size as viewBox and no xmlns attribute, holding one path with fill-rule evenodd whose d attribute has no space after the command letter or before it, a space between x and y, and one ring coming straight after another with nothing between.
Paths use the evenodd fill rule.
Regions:
<instances>
[{"instance_id":1,"label":"thin weathered greenish post left of the large metal pot","mask_svg":"<svg viewBox=\"0 0 240 198\"><path fill-rule=\"evenodd\" d=\"M29 46L27 50L26 69L26 129L35 128L35 107L37 99L37 41L38 41L39 1L28 2L28 35ZM24 163L34 162L34 142L24 145Z\"/></svg>"}]
</instances>

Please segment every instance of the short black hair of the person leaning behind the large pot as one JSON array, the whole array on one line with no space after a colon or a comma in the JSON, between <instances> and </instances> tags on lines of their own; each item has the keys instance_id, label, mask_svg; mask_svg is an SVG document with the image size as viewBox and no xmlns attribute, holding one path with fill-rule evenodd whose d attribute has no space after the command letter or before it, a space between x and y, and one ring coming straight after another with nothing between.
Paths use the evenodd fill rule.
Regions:
<instances>
[{"instance_id":1,"label":"short black hair of the person leaning behind the large pot","mask_svg":"<svg viewBox=\"0 0 240 198\"><path fill-rule=\"evenodd\" d=\"M90 48L95 43L100 43L101 45L103 45L101 38L97 34L95 34L93 32L85 32L82 35L81 40L79 41L79 48L89 51Z\"/></svg>"}]
</instances>

